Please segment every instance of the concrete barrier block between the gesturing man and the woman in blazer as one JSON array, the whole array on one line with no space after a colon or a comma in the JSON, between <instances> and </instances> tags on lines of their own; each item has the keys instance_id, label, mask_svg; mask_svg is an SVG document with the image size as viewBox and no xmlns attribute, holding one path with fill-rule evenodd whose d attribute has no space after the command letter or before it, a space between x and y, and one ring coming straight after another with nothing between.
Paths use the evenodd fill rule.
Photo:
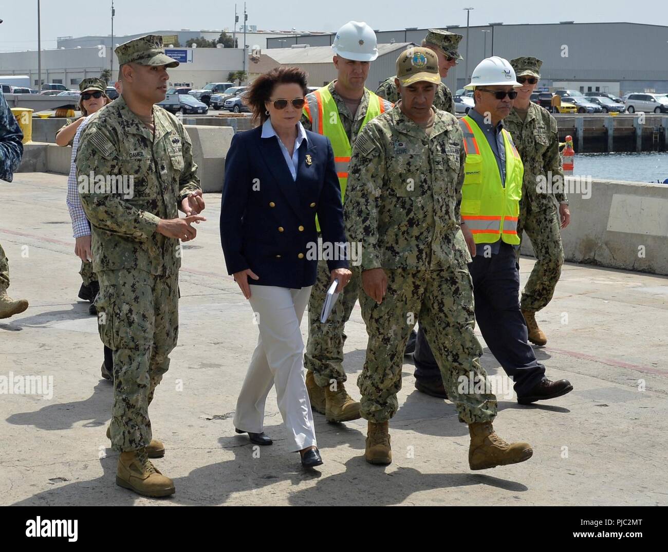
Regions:
<instances>
[{"instance_id":1,"label":"concrete barrier block between the gesturing man and the woman in blazer","mask_svg":"<svg viewBox=\"0 0 668 552\"><path fill-rule=\"evenodd\" d=\"M229 126L186 124L192 141L192 156L204 192L222 192L225 158L232 143L234 129Z\"/></svg>"}]
</instances>

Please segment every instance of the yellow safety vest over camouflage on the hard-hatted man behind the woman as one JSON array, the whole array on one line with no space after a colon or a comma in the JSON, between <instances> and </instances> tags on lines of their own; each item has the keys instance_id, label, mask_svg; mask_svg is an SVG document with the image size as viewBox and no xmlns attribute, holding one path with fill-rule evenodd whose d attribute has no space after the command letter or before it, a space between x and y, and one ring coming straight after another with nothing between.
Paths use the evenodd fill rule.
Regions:
<instances>
[{"instance_id":1,"label":"yellow safety vest over camouflage on the hard-hatted man behind the woman","mask_svg":"<svg viewBox=\"0 0 668 552\"><path fill-rule=\"evenodd\" d=\"M311 121L311 130L327 136L332 144L336 172L339 177L339 186L341 186L341 201L343 202L345 198L345 186L348 183L350 154L353 147L350 145L347 134L345 134L345 128L343 128L343 123L341 123L341 117L339 116L339 109L327 88L328 86L323 86L323 88L307 94L306 104L304 104L304 114ZM367 113L362 121L360 130L364 128L367 122L385 111L383 100L373 94L371 90L365 89L365 91L369 92L369 106L367 107ZM320 231L320 224L317 218L315 227L317 231Z\"/></svg>"}]
</instances>

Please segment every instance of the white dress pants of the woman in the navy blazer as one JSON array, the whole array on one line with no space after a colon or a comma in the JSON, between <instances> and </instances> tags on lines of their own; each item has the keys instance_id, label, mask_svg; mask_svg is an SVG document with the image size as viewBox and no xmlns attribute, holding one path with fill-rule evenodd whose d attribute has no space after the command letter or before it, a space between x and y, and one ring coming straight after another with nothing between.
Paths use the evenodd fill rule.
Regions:
<instances>
[{"instance_id":1,"label":"white dress pants of the woman in the navy blazer","mask_svg":"<svg viewBox=\"0 0 668 552\"><path fill-rule=\"evenodd\" d=\"M248 301L253 307L260 336L236 401L234 427L251 433L263 432L265 401L272 386L276 386L290 450L317 446L304 379L304 342L299 329L311 286L301 289L250 287Z\"/></svg>"}]
</instances>

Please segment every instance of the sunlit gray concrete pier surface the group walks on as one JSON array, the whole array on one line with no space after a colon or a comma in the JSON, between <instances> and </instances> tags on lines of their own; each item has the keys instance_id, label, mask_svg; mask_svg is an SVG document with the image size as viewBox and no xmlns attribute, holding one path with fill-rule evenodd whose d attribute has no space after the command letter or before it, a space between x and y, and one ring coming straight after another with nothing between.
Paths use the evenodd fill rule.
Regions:
<instances>
[{"instance_id":1,"label":"sunlit gray concrete pier surface the group walks on","mask_svg":"<svg viewBox=\"0 0 668 552\"><path fill-rule=\"evenodd\" d=\"M112 386L100 378L96 317L77 299L65 182L21 173L0 185L9 292L30 301L25 313L0 321L0 376L53 377L50 399L0 396L0 504L668 504L668 279L589 265L564 265L554 300L538 313L549 341L536 354L550 378L568 378L574 391L536 406L498 394L494 426L506 440L532 444L528 462L471 472L466 426L450 402L415 390L409 358L390 422L391 465L363 459L364 420L332 425L315 414L325 463L303 472L287 451L273 391L265 431L275 442L255 458L232 415L257 326L224 268L220 194L206 194L208 221L185 244L179 343L150 408L154 436L166 446L154 463L174 478L176 495L152 500L117 487L118 454L105 437ZM522 257L523 283L532 265ZM302 331L306 337L305 321ZM346 333L347 389L359 398L367 341L359 307ZM502 374L487 349L482 362Z\"/></svg>"}]
</instances>

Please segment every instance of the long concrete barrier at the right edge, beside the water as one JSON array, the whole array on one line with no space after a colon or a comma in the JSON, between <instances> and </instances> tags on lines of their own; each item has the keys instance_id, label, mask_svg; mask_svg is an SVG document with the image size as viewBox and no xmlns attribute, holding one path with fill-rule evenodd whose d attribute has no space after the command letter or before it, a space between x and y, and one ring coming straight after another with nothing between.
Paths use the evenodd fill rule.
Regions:
<instances>
[{"instance_id":1,"label":"long concrete barrier at the right edge, beside the water","mask_svg":"<svg viewBox=\"0 0 668 552\"><path fill-rule=\"evenodd\" d=\"M575 180L566 178L566 185ZM591 196L569 193L561 231L566 261L668 275L668 185L592 180ZM526 233L522 255L533 255Z\"/></svg>"}]
</instances>

